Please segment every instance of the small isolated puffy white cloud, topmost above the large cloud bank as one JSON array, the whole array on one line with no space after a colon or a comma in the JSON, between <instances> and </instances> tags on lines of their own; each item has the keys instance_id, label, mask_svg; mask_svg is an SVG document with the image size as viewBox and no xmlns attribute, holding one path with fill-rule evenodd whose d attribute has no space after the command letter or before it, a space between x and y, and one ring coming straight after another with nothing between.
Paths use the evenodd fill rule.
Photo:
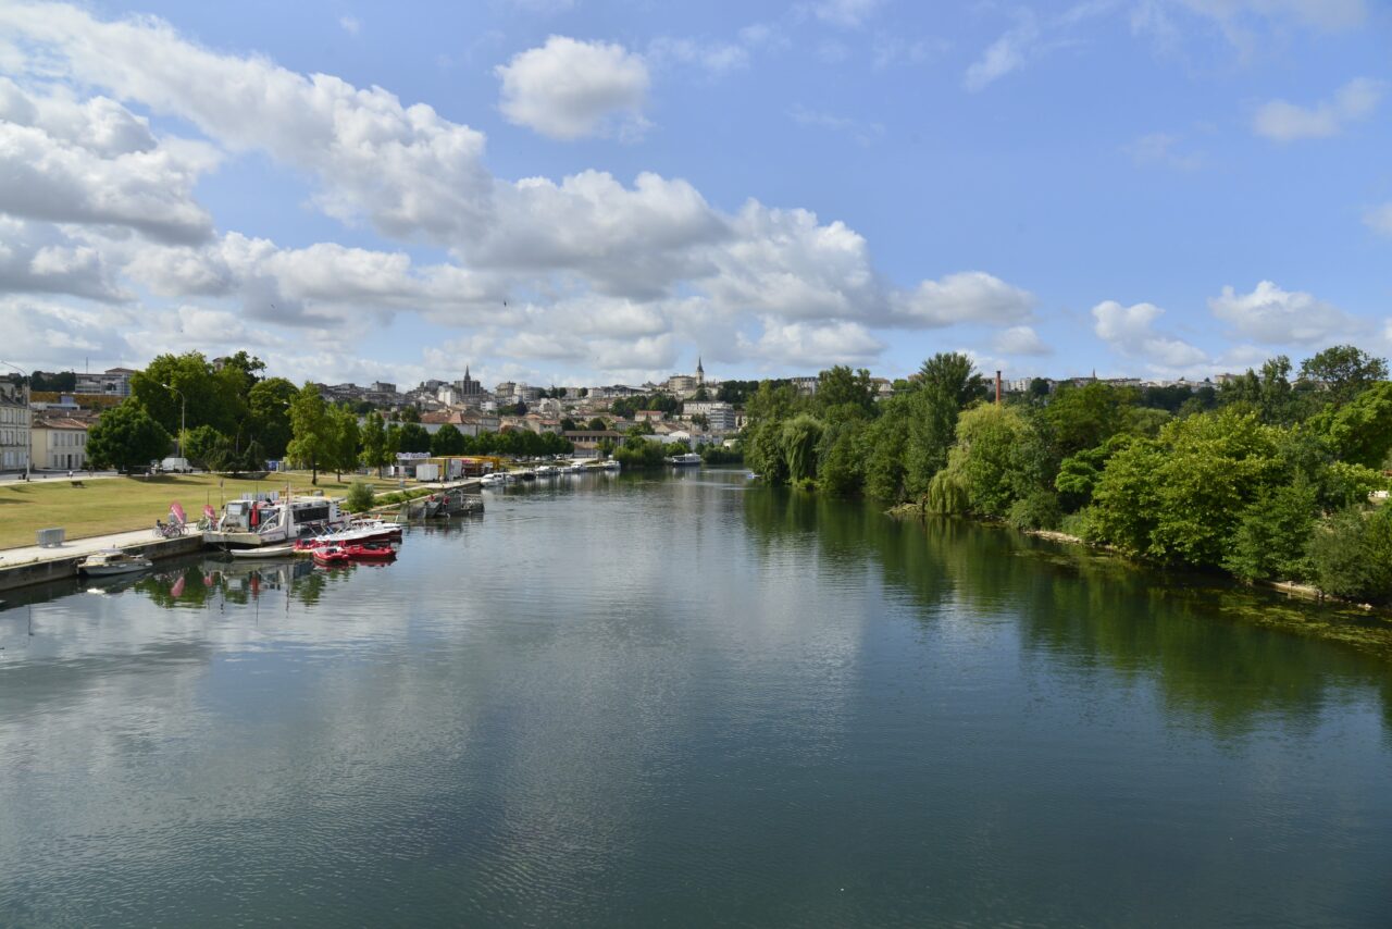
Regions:
<instances>
[{"instance_id":1,"label":"small isolated puffy white cloud, topmost above the large cloud bank","mask_svg":"<svg viewBox=\"0 0 1392 929\"><path fill-rule=\"evenodd\" d=\"M647 65L619 45L551 36L496 68L500 109L509 123L554 139L646 128Z\"/></svg>"}]
</instances>

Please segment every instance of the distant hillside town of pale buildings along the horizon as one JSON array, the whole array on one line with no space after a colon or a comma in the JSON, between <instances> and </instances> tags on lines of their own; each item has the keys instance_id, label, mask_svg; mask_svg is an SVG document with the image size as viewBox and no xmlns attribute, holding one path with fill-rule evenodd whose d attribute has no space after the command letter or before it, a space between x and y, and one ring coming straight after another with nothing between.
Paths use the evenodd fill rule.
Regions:
<instances>
[{"instance_id":1,"label":"distant hillside town of pale buildings along the horizon","mask_svg":"<svg viewBox=\"0 0 1392 929\"><path fill-rule=\"evenodd\" d=\"M198 361L189 364L205 365L210 376L216 376L228 364L248 364L245 352L212 361L205 361L195 352L178 359L161 357L152 362L152 366L159 365L163 372L153 375L160 380L156 393L167 391L168 397L167 403L146 403L146 405L160 407L152 412L159 414L156 418L174 436L207 421L203 418L195 423L177 415L180 412L177 384L189 382L181 380L182 375L170 375L170 370L175 370L170 364L191 358ZM253 364L248 369L248 379L263 380L264 365L258 359L249 361ZM86 468L89 428L103 409L131 397L132 382L143 373L132 368L109 368L97 373L35 370L32 376L18 368L11 370L14 373L0 379L0 472L10 474ZM789 384L799 394L814 396L824 376L825 372L771 380L775 384ZM166 377L173 377L174 386L163 380ZM915 377L917 375L894 380L871 376L870 384L878 397L887 398L909 389ZM1047 397L1063 384L1101 382L1115 387L1168 394L1171 403L1164 405L1178 407L1185 397L1215 391L1235 377L1237 375L1228 373L1203 382L1098 379L1096 373L1062 380L1011 377L999 380L999 390L1006 396ZM270 380L292 387L281 379ZM430 379L413 387L400 387L390 382L373 382L367 386L355 383L312 386L327 404L354 412L359 425L366 422L369 414L377 414L387 423L416 423L426 436L436 436L445 428L468 439L516 430L554 435L568 442L578 455L586 455L599 454L606 443L635 433L664 443L685 443L693 448L711 443L729 443L745 426L745 400L757 390L759 383L759 380L707 377L704 365L697 358L696 370L692 373L674 373L663 382L642 384L543 387L507 380L489 389L473 377L470 368L465 365L464 376L458 380ZM281 398L278 403L290 405L288 398ZM182 412L187 414L187 408ZM231 429L234 425L228 422L227 430ZM239 432L239 428L237 429ZM280 447L264 451L270 455L284 454L284 444L285 442L280 442ZM416 454L419 453L420 450L416 450Z\"/></svg>"}]
</instances>

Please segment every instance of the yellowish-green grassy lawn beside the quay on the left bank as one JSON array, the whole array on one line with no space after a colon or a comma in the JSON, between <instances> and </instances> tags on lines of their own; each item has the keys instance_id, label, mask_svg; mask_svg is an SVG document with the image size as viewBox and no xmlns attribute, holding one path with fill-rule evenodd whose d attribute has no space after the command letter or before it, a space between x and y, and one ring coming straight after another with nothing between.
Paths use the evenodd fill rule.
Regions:
<instances>
[{"instance_id":1,"label":"yellowish-green grassy lawn beside the quay on the left bank","mask_svg":"<svg viewBox=\"0 0 1392 929\"><path fill-rule=\"evenodd\" d=\"M146 478L96 478L74 487L67 479L6 482L0 485L0 549L33 545L35 529L63 526L67 538L82 539L107 532L153 528L168 517L170 503L184 504L189 521L198 521L203 504L221 513L224 500L237 500L256 490L284 490L285 479L296 493L312 489L309 472L291 472L266 481L221 478L219 475L159 475ZM369 481L369 478L359 478ZM395 481L370 479L379 493L397 490ZM408 483L408 487L411 485ZM348 494L349 481L319 475L317 489L327 496Z\"/></svg>"}]
</instances>

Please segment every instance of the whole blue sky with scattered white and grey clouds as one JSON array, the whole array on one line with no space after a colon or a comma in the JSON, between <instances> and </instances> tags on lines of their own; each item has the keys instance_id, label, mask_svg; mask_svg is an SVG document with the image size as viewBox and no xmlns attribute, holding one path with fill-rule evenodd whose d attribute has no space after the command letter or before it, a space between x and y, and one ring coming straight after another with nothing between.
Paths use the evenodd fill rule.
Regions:
<instances>
[{"instance_id":1,"label":"whole blue sky with scattered white and grey clouds","mask_svg":"<svg viewBox=\"0 0 1392 929\"><path fill-rule=\"evenodd\" d=\"M1388 354L1371 0L0 0L25 368L1203 377Z\"/></svg>"}]
</instances>

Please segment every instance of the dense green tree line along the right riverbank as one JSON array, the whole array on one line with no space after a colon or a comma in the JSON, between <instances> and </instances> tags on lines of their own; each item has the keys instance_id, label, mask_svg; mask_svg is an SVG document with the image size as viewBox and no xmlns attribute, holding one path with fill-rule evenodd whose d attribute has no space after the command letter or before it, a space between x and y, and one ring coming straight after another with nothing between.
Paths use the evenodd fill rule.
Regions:
<instances>
[{"instance_id":1,"label":"dense green tree line along the right riverbank","mask_svg":"<svg viewBox=\"0 0 1392 929\"><path fill-rule=\"evenodd\" d=\"M1392 599L1392 383L1353 345L1286 357L1180 403L1102 382L995 405L938 354L876 403L869 372L816 396L760 384L745 460L767 481L1062 529L1140 560ZM1189 389L1183 389L1189 390Z\"/></svg>"}]
</instances>

